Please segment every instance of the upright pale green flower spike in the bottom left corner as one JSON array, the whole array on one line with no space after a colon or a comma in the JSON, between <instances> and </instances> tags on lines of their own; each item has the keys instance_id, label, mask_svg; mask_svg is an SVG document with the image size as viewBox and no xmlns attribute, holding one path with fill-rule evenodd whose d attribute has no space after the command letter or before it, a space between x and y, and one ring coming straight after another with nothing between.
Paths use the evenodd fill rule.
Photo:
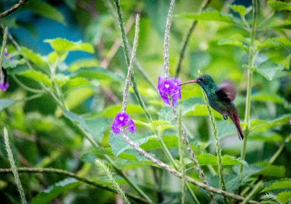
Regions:
<instances>
[{"instance_id":1,"label":"upright pale green flower spike in the bottom left corner","mask_svg":"<svg viewBox=\"0 0 291 204\"><path fill-rule=\"evenodd\" d=\"M24 190L23 190L23 187L21 185L21 181L19 179L16 164L15 164L15 161L13 158L13 153L12 153L12 150L11 150L11 147L9 144L9 137L8 137L8 132L7 132L6 128L4 128L3 133L4 133L4 142L5 142L5 148L6 148L7 155L8 155L8 160L10 162L10 166L11 166L11 169L12 169L12 172L14 175L15 183L16 183L16 186L17 186L19 194L20 194L21 203L26 204L27 202L26 202Z\"/></svg>"}]
</instances>

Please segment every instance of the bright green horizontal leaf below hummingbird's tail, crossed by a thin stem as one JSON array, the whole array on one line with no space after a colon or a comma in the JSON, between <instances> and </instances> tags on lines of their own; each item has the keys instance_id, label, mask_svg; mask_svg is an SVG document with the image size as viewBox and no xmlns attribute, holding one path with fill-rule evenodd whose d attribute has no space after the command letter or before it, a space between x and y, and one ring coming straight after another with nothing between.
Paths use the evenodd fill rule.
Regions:
<instances>
[{"instance_id":1,"label":"bright green horizontal leaf below hummingbird's tail, crossed by a thin stem","mask_svg":"<svg viewBox=\"0 0 291 204\"><path fill-rule=\"evenodd\" d=\"M205 165L215 165L217 166L217 156L210 153L203 153L197 155L198 163L202 166ZM222 156L222 164L224 166L231 165L248 165L246 161L241 158L236 158L234 156L223 155Z\"/></svg>"}]
</instances>

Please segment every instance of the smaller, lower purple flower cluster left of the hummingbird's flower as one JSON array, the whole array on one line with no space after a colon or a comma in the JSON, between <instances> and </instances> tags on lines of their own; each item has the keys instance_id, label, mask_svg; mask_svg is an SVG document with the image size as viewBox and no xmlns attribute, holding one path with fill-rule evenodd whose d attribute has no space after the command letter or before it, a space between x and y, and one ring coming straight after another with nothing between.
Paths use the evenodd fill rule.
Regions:
<instances>
[{"instance_id":1,"label":"smaller, lower purple flower cluster left of the hummingbird's flower","mask_svg":"<svg viewBox=\"0 0 291 204\"><path fill-rule=\"evenodd\" d=\"M121 132L122 127L125 127L126 125L126 129L133 134L135 131L133 120L129 118L129 115L126 112L120 112L116 114L111 129L114 134L118 134Z\"/></svg>"}]
</instances>

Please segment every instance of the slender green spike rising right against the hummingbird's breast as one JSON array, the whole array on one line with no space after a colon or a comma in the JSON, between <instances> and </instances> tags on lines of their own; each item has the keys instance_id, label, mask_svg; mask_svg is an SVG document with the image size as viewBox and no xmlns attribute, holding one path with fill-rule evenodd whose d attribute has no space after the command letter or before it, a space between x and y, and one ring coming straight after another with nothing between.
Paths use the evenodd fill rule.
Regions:
<instances>
[{"instance_id":1,"label":"slender green spike rising right against the hummingbird's breast","mask_svg":"<svg viewBox=\"0 0 291 204\"><path fill-rule=\"evenodd\" d=\"M201 88L202 89L202 88ZM221 156L221 148L220 148L220 142L219 142L219 138L217 136L217 128L216 128L216 123L215 123L215 119L212 113L212 109L210 107L208 98L204 92L204 90L201 90L202 94L203 94L203 98L204 101L207 105L207 110L208 110L208 115L209 115L209 119L211 121L211 127L213 130L213 136L215 139L215 150L216 150L216 155L217 155L217 164L218 164L218 173L219 173L219 181L220 181L220 185L222 187L223 190L226 190L226 184L225 184L225 180L224 180L224 170L223 170L223 164L222 164L222 156ZM224 202L226 204L228 204L228 200L227 197L223 197L224 198Z\"/></svg>"}]
</instances>

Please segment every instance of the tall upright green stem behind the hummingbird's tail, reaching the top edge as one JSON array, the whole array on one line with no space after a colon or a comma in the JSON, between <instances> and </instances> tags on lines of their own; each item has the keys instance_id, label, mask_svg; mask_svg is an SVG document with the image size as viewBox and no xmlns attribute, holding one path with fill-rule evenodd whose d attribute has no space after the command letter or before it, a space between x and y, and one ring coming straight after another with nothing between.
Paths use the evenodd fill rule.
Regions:
<instances>
[{"instance_id":1,"label":"tall upright green stem behind the hummingbird's tail, reaching the top edge","mask_svg":"<svg viewBox=\"0 0 291 204\"><path fill-rule=\"evenodd\" d=\"M247 91L246 91L245 114L244 114L244 122L246 123L246 127L244 131L244 140L243 140L242 153L241 153L241 158L243 160L245 160L247 136L249 134L249 129L250 129L251 93L252 93L252 80L253 80L252 68L254 67L254 64L255 64L255 55L256 55L255 38L256 38L257 10L258 10L258 1L253 0L253 22L252 22L252 29L250 31L251 43L249 46L249 63L248 63L248 70L247 70ZM241 166L240 172L242 173L242 171L243 171L243 165Z\"/></svg>"}]
</instances>

